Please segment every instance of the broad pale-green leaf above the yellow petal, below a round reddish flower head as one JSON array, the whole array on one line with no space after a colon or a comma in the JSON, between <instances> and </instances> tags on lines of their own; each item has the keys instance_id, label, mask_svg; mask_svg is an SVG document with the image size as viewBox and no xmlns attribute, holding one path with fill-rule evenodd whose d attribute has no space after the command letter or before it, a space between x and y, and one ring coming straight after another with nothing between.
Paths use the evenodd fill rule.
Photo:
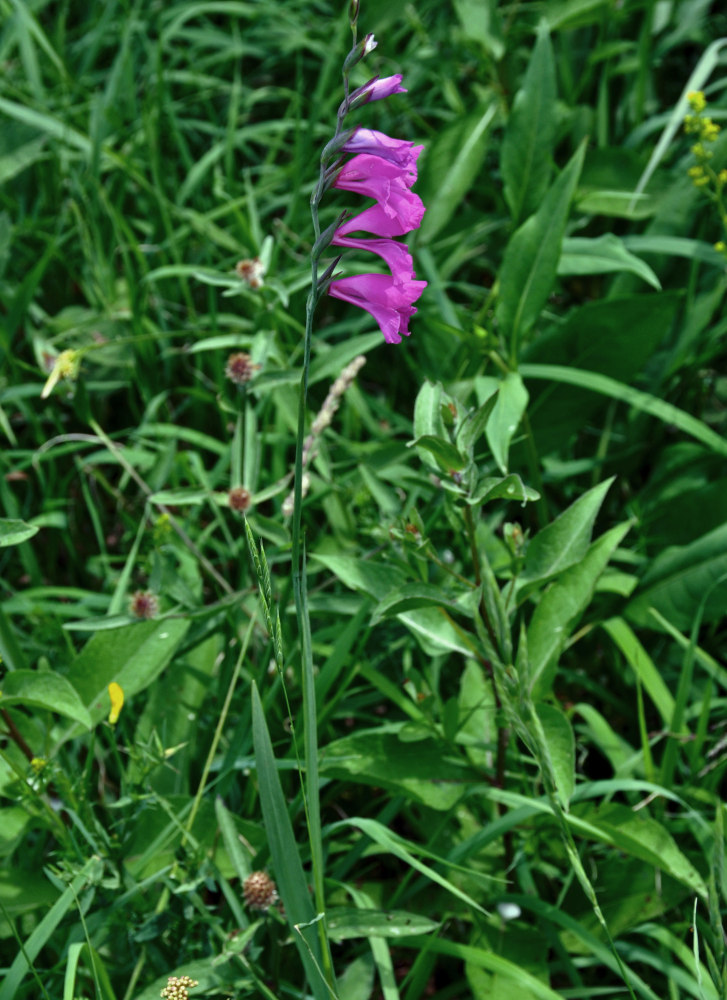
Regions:
<instances>
[{"instance_id":1,"label":"broad pale-green leaf above the yellow petal, below a round reddish flower head","mask_svg":"<svg viewBox=\"0 0 727 1000\"><path fill-rule=\"evenodd\" d=\"M169 664L189 626L188 621L168 618L96 632L68 672L92 721L108 715L111 681L121 685L127 699L143 691Z\"/></svg>"}]
</instances>

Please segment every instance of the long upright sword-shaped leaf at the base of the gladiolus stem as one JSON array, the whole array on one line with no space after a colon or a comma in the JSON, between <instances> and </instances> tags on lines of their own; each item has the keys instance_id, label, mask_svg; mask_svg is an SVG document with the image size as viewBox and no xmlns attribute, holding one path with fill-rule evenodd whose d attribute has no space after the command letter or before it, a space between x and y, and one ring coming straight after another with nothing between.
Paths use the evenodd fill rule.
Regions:
<instances>
[{"instance_id":1,"label":"long upright sword-shaped leaf at the base of the gladiolus stem","mask_svg":"<svg viewBox=\"0 0 727 1000\"><path fill-rule=\"evenodd\" d=\"M308 882L303 872L299 847L288 815L288 807L283 797L283 789L280 785L262 702L254 681L252 684L252 738L255 747L263 822L268 835L275 881L285 905L285 916L315 997L317 1000L329 1000L325 981L318 971L321 968L321 951L316 928L315 926L303 926L300 933L295 929L296 925L310 924L315 917L315 911L308 891Z\"/></svg>"}]
</instances>

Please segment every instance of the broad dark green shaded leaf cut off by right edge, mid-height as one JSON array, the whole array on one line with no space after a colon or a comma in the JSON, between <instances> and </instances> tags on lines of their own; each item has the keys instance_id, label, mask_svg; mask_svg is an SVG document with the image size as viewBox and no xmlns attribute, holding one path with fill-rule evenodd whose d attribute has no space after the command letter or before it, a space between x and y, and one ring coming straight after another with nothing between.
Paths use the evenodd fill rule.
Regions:
<instances>
[{"instance_id":1,"label":"broad dark green shaded leaf cut off by right edge, mid-height","mask_svg":"<svg viewBox=\"0 0 727 1000\"><path fill-rule=\"evenodd\" d=\"M702 535L689 545L676 545L651 563L626 606L636 625L654 627L655 608L681 631L689 631L706 597L703 621L724 616L727 599L727 525Z\"/></svg>"}]
</instances>

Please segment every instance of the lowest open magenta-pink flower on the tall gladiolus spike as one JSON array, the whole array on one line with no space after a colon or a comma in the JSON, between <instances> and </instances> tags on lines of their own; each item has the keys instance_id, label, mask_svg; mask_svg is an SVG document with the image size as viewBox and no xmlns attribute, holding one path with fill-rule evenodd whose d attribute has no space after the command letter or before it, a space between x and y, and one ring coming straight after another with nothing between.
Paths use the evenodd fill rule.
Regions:
<instances>
[{"instance_id":1,"label":"lowest open magenta-pink flower on the tall gladiolus spike","mask_svg":"<svg viewBox=\"0 0 727 1000\"><path fill-rule=\"evenodd\" d=\"M409 336L413 304L426 288L426 281L397 281L388 274L357 274L332 281L328 294L370 312L381 327L387 344L400 344Z\"/></svg>"}]
</instances>

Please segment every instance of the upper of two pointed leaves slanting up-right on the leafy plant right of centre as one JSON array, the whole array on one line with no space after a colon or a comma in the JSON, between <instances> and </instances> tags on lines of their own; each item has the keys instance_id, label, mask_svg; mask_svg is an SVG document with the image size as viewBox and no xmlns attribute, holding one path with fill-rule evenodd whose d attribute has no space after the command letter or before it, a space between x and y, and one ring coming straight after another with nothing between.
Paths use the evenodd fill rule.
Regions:
<instances>
[{"instance_id":1,"label":"upper of two pointed leaves slanting up-right on the leafy plant right of centre","mask_svg":"<svg viewBox=\"0 0 727 1000\"><path fill-rule=\"evenodd\" d=\"M588 490L529 542L517 580L518 591L580 562L588 551L596 515L612 483L613 477Z\"/></svg>"}]
</instances>

